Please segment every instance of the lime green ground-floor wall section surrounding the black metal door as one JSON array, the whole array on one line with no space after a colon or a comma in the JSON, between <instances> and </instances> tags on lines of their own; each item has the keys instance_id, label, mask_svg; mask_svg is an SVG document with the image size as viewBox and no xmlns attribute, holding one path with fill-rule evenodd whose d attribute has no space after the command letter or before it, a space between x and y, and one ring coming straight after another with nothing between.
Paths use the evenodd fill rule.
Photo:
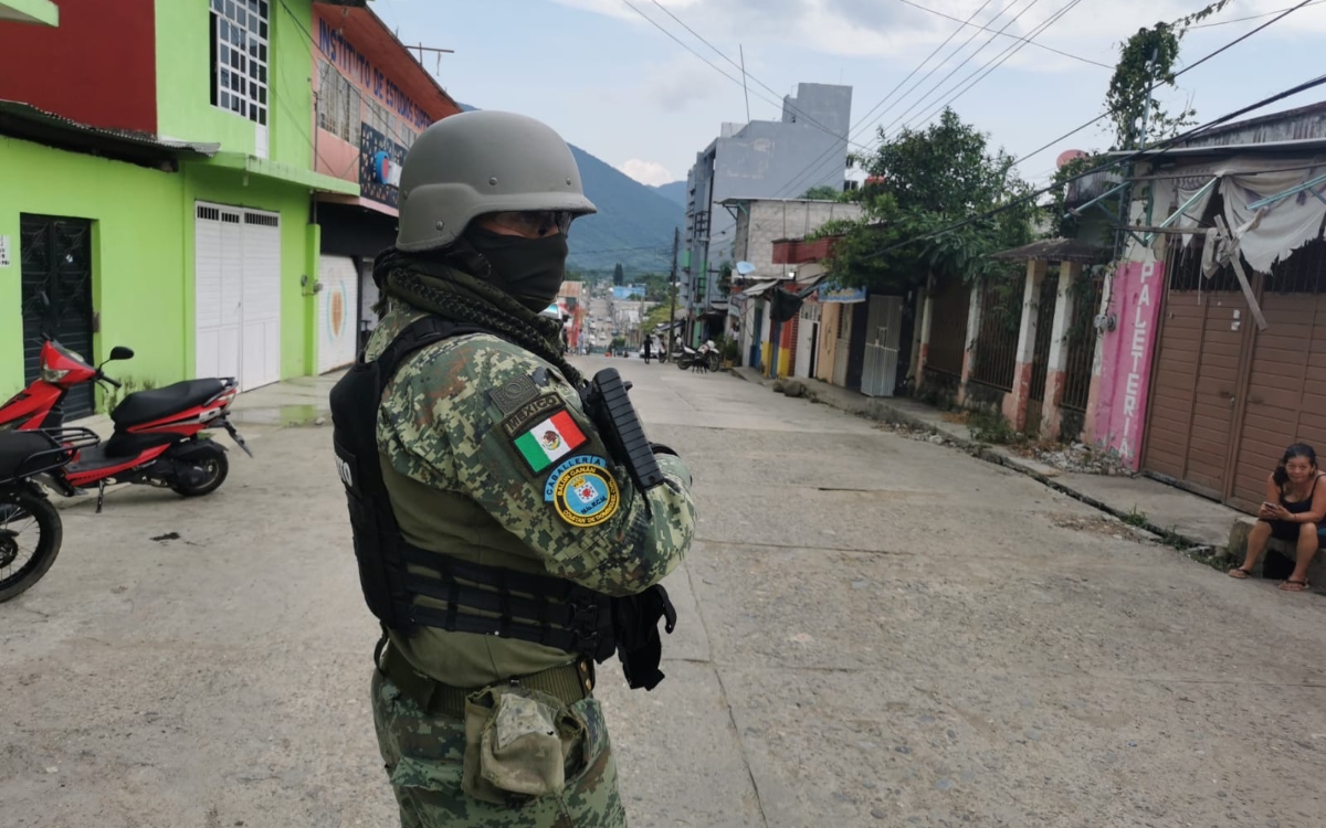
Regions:
<instances>
[{"instance_id":1,"label":"lime green ground-floor wall section surrounding the black metal door","mask_svg":"<svg viewBox=\"0 0 1326 828\"><path fill-rule=\"evenodd\" d=\"M11 260L0 268L0 401L24 386L20 213L93 221L93 307L101 313L101 333L93 338L95 352L84 356L98 359L125 344L137 356L118 363L115 375L184 379L182 178L11 138L0 138L0 236L9 237Z\"/></svg>"}]
</instances>

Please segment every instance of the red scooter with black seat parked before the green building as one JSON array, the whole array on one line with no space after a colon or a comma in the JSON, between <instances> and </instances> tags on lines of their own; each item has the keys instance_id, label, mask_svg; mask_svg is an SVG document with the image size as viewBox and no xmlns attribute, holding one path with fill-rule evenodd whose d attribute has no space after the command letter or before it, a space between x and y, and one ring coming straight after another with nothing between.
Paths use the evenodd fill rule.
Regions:
<instances>
[{"instance_id":1,"label":"red scooter with black seat parked before the green building","mask_svg":"<svg viewBox=\"0 0 1326 828\"><path fill-rule=\"evenodd\" d=\"M133 356L130 348L115 346L106 362ZM88 364L48 338L41 346L38 378L0 405L0 432L61 428L64 399L82 383L121 387L101 366ZM110 412L115 424L110 440L80 449L73 462L45 480L66 497L97 486L97 511L107 484L163 486L184 497L210 494L225 481L229 462L224 448L200 436L204 428L224 428L245 454L253 456L227 419L237 393L233 379L195 379L130 393Z\"/></svg>"}]
</instances>

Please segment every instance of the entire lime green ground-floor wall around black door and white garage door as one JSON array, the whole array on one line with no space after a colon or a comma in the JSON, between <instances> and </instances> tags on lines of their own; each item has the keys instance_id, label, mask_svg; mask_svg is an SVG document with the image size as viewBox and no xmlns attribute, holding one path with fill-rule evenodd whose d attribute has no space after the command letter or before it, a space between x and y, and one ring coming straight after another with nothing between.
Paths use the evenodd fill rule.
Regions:
<instances>
[{"instance_id":1,"label":"entire lime green ground-floor wall around black door and white garage door","mask_svg":"<svg viewBox=\"0 0 1326 828\"><path fill-rule=\"evenodd\" d=\"M0 236L9 237L0 268L0 401L23 386L20 213L93 221L93 307L98 359L117 344L137 355L117 376L166 384L194 376L194 203L215 201L281 213L281 378L314 372L313 297L308 269L308 193L278 181L186 164L170 174L90 155L0 138ZM316 256L314 256L316 261ZM312 277L313 274L310 274Z\"/></svg>"}]
</instances>

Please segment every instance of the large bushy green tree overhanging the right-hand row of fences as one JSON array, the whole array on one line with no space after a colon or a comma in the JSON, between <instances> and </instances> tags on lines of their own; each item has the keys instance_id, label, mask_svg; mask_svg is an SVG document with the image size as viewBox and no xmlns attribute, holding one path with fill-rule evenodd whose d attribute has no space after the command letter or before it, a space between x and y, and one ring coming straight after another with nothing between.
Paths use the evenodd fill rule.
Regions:
<instances>
[{"instance_id":1,"label":"large bushy green tree overhanging the right-hand row of fences","mask_svg":"<svg viewBox=\"0 0 1326 828\"><path fill-rule=\"evenodd\" d=\"M968 282L1002 276L1014 266L989 256L1032 240L1037 207L1025 197L1030 185L1016 175L1008 152L991 148L951 109L937 123L903 130L858 160L879 179L857 195L865 217L830 223L819 233L843 234L829 262L839 284L904 289L931 273ZM1001 212L937 233L993 208Z\"/></svg>"}]
</instances>

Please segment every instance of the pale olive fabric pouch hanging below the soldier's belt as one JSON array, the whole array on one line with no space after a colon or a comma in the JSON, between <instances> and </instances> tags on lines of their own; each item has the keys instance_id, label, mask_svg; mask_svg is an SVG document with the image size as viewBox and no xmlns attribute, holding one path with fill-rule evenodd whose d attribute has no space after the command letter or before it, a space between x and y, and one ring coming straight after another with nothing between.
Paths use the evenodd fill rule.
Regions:
<instances>
[{"instance_id":1,"label":"pale olive fabric pouch hanging below the soldier's belt","mask_svg":"<svg viewBox=\"0 0 1326 828\"><path fill-rule=\"evenodd\" d=\"M579 715L548 693L520 685L473 693L465 699L460 788L495 804L561 794L585 731Z\"/></svg>"}]
</instances>

